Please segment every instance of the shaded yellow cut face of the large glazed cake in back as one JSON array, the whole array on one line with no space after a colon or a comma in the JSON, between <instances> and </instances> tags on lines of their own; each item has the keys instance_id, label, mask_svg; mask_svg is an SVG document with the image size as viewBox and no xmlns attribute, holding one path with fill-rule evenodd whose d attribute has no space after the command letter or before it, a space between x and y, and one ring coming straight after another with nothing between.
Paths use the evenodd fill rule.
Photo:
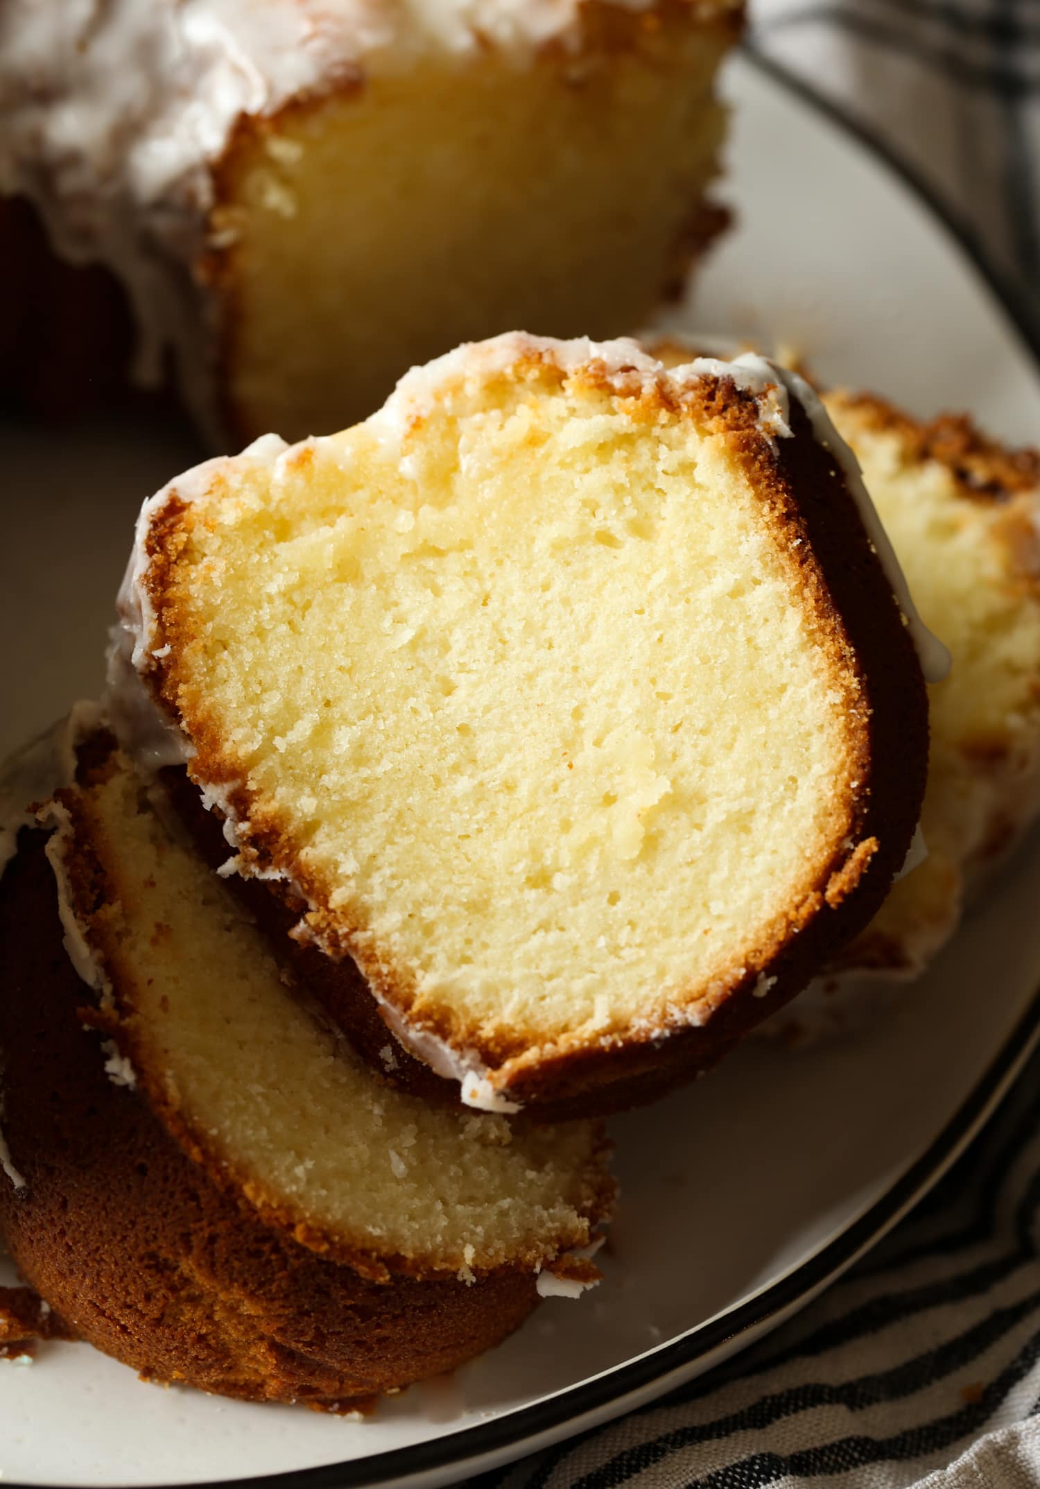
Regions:
<instances>
[{"instance_id":1,"label":"shaded yellow cut face of the large glazed cake in back","mask_svg":"<svg viewBox=\"0 0 1040 1489\"><path fill-rule=\"evenodd\" d=\"M376 67L256 127L211 219L240 435L342 429L411 363L507 326L646 319L717 170L719 9L628 18L623 45L573 57Z\"/></svg>"}]
</instances>

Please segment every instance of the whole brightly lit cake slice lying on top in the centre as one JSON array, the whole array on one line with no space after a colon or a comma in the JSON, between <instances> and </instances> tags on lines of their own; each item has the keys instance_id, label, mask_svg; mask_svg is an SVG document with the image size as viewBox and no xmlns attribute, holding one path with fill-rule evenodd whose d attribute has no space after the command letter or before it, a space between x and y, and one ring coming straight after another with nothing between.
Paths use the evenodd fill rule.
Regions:
<instances>
[{"instance_id":1,"label":"whole brightly lit cake slice lying on top in the centre","mask_svg":"<svg viewBox=\"0 0 1040 1489\"><path fill-rule=\"evenodd\" d=\"M914 835L930 637L850 479L759 359L463 347L144 505L113 725L464 1100L646 1099L836 954Z\"/></svg>"}]
</instances>

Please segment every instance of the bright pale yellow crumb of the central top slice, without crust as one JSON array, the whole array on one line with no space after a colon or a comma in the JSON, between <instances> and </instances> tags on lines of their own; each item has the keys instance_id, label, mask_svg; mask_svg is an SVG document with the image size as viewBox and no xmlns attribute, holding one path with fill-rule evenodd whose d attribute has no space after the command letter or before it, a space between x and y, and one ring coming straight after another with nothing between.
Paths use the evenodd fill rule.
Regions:
<instances>
[{"instance_id":1,"label":"bright pale yellow crumb of the central top slice, without crust","mask_svg":"<svg viewBox=\"0 0 1040 1489\"><path fill-rule=\"evenodd\" d=\"M500 378L379 427L187 509L182 713L420 1023L659 1027L848 849L830 624L692 415Z\"/></svg>"}]
</instances>

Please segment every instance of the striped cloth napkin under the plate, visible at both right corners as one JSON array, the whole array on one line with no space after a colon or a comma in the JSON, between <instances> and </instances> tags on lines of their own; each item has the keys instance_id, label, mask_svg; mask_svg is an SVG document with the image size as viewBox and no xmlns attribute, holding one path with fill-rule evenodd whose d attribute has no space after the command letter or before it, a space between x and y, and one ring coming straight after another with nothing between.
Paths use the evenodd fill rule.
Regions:
<instances>
[{"instance_id":1,"label":"striped cloth napkin under the plate, visible at both right corners","mask_svg":"<svg viewBox=\"0 0 1040 1489\"><path fill-rule=\"evenodd\" d=\"M1040 326L1040 0L751 0ZM1040 430L1037 432L1040 441ZM754 1349L470 1489L1040 1486L1040 1056L933 1194Z\"/></svg>"}]
</instances>

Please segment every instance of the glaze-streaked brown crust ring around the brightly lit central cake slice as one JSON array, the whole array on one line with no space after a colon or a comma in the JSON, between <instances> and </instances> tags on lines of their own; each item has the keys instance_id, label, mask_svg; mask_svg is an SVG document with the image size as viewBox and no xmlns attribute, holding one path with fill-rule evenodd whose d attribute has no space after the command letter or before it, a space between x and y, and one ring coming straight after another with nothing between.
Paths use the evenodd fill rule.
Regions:
<instances>
[{"instance_id":1,"label":"glaze-streaked brown crust ring around the brightly lit central cake slice","mask_svg":"<svg viewBox=\"0 0 1040 1489\"><path fill-rule=\"evenodd\" d=\"M164 764L177 759L186 764L235 847L229 870L272 880L275 890L299 905L304 910L295 932L299 940L317 943L332 957L354 956L396 1038L418 1060L458 1081L466 1102L492 1109L555 1103L556 1115L561 1103L564 1108L574 1103L574 1111L612 1109L649 1099L659 1093L662 1081L687 1078L714 1063L753 1023L797 992L830 946L844 943L870 917L905 858L924 785L925 698L912 639L931 675L942 670L945 655L919 627L905 587L902 596L894 593L893 584L902 578L897 566L887 579L870 557L876 529L869 530L872 508L861 482L857 485L856 463L818 402L793 374L760 357L734 363L698 359L665 371L628 339L555 342L512 334L414 369L369 420L369 429L400 451L406 430L439 389L494 374L561 383L588 380L623 399L626 409L647 417L659 411L670 417L681 417L684 411L687 417L696 415L732 439L756 490L769 493L789 514L787 520L799 524L789 529L787 541L799 532L789 551L806 608L817 616L824 648L838 648L838 676L856 677L850 683L856 695L850 694L847 712L850 731L858 739L857 789L842 803L848 829L844 847L821 867L808 898L771 929L751 962L734 968L695 1007L677 1007L653 1027L634 1029L626 1039L609 1036L597 1047L568 1047L561 1039L552 1051L516 1057L431 1020L417 1029L408 1018L408 987L366 960L342 922L321 910L323 889L308 881L293 861L292 846L277 835L259 841L250 832L251 804L241 770L214 753L213 742L207 743L202 759L182 727L184 721L176 716L176 657L167 640L168 618L161 613L164 545L176 535L192 499L208 490L220 462L171 482L141 511L121 593L110 713L123 746L146 768L159 758ZM292 457L293 451L268 436L241 459L277 463ZM808 543L802 548L805 538ZM902 658L902 666L893 667L893 658ZM141 685L150 712L138 707ZM125 707L131 692L137 703ZM121 727L126 719L134 722ZM879 810L876 803L887 806Z\"/></svg>"}]
</instances>

